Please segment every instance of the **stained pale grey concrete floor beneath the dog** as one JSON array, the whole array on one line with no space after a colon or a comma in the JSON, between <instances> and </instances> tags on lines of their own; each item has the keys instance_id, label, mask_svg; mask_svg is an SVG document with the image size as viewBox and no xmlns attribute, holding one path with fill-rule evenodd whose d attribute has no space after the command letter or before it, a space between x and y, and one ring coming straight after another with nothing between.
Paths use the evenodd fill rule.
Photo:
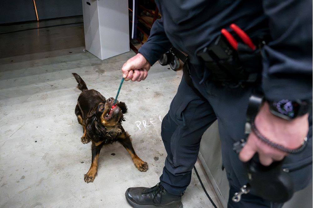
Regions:
<instances>
[{"instance_id":1,"label":"stained pale grey concrete floor beneath the dog","mask_svg":"<svg viewBox=\"0 0 313 208\"><path fill-rule=\"evenodd\" d=\"M156 63L145 81L124 82L121 88L118 99L128 106L123 127L149 170L138 171L115 143L102 149L98 176L87 184L83 176L91 163L90 144L80 142L82 126L74 114L80 91L71 73L78 73L89 89L115 97L121 66L135 53L101 61L83 52L79 22L82 18L0 27L0 207L124 208L130 207L128 187L159 181L166 158L161 120L182 71ZM58 24L66 25L47 27ZM30 29L38 26L44 28ZM221 207L199 161L196 168ZM194 172L182 201L187 208L213 207Z\"/></svg>"}]
</instances>

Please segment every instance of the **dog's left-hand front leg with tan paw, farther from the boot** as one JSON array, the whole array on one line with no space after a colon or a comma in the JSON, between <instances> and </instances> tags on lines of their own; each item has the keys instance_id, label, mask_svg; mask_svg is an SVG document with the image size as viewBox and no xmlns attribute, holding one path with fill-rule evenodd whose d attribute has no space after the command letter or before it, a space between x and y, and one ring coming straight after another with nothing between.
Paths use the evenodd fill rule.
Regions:
<instances>
[{"instance_id":1,"label":"dog's left-hand front leg with tan paw, farther from the boot","mask_svg":"<svg viewBox=\"0 0 313 208\"><path fill-rule=\"evenodd\" d=\"M100 150L102 148L103 144L102 142L92 142L91 145L91 166L89 171L84 175L84 180L86 183L93 182L95 180L95 177L97 175L98 171L98 158L100 154Z\"/></svg>"}]
</instances>

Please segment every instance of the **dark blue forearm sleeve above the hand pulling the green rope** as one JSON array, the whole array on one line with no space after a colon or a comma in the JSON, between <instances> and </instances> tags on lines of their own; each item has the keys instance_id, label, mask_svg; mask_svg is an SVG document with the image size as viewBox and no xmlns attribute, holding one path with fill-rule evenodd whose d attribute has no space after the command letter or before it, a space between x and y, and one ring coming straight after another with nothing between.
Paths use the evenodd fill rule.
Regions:
<instances>
[{"instance_id":1,"label":"dark blue forearm sleeve above the hand pulling the green rope","mask_svg":"<svg viewBox=\"0 0 313 208\"><path fill-rule=\"evenodd\" d=\"M151 28L148 40L139 48L141 53L151 64L151 66L159 60L163 53L172 47L168 40L163 27L163 19L156 20Z\"/></svg>"}]
</instances>

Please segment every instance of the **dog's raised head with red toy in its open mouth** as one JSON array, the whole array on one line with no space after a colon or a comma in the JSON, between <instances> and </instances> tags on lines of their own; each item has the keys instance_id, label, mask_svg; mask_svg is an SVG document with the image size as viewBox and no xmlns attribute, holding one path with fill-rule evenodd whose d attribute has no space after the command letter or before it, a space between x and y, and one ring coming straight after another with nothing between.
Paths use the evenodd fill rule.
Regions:
<instances>
[{"instance_id":1,"label":"dog's raised head with red toy in its open mouth","mask_svg":"<svg viewBox=\"0 0 313 208\"><path fill-rule=\"evenodd\" d=\"M110 97L87 114L86 136L94 140L95 137L115 137L121 132L120 124L125 121L127 106L124 102L116 101L116 106L112 108L113 103L114 98Z\"/></svg>"}]
</instances>

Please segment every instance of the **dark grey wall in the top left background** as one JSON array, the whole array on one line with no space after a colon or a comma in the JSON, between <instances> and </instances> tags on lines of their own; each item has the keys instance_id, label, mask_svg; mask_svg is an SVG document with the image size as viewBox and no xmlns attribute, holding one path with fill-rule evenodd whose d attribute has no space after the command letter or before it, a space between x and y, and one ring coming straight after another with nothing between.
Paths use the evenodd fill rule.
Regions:
<instances>
[{"instance_id":1,"label":"dark grey wall in the top left background","mask_svg":"<svg viewBox=\"0 0 313 208\"><path fill-rule=\"evenodd\" d=\"M81 0L35 0L39 20L83 15ZM33 0L0 0L0 24L36 20Z\"/></svg>"}]
</instances>

